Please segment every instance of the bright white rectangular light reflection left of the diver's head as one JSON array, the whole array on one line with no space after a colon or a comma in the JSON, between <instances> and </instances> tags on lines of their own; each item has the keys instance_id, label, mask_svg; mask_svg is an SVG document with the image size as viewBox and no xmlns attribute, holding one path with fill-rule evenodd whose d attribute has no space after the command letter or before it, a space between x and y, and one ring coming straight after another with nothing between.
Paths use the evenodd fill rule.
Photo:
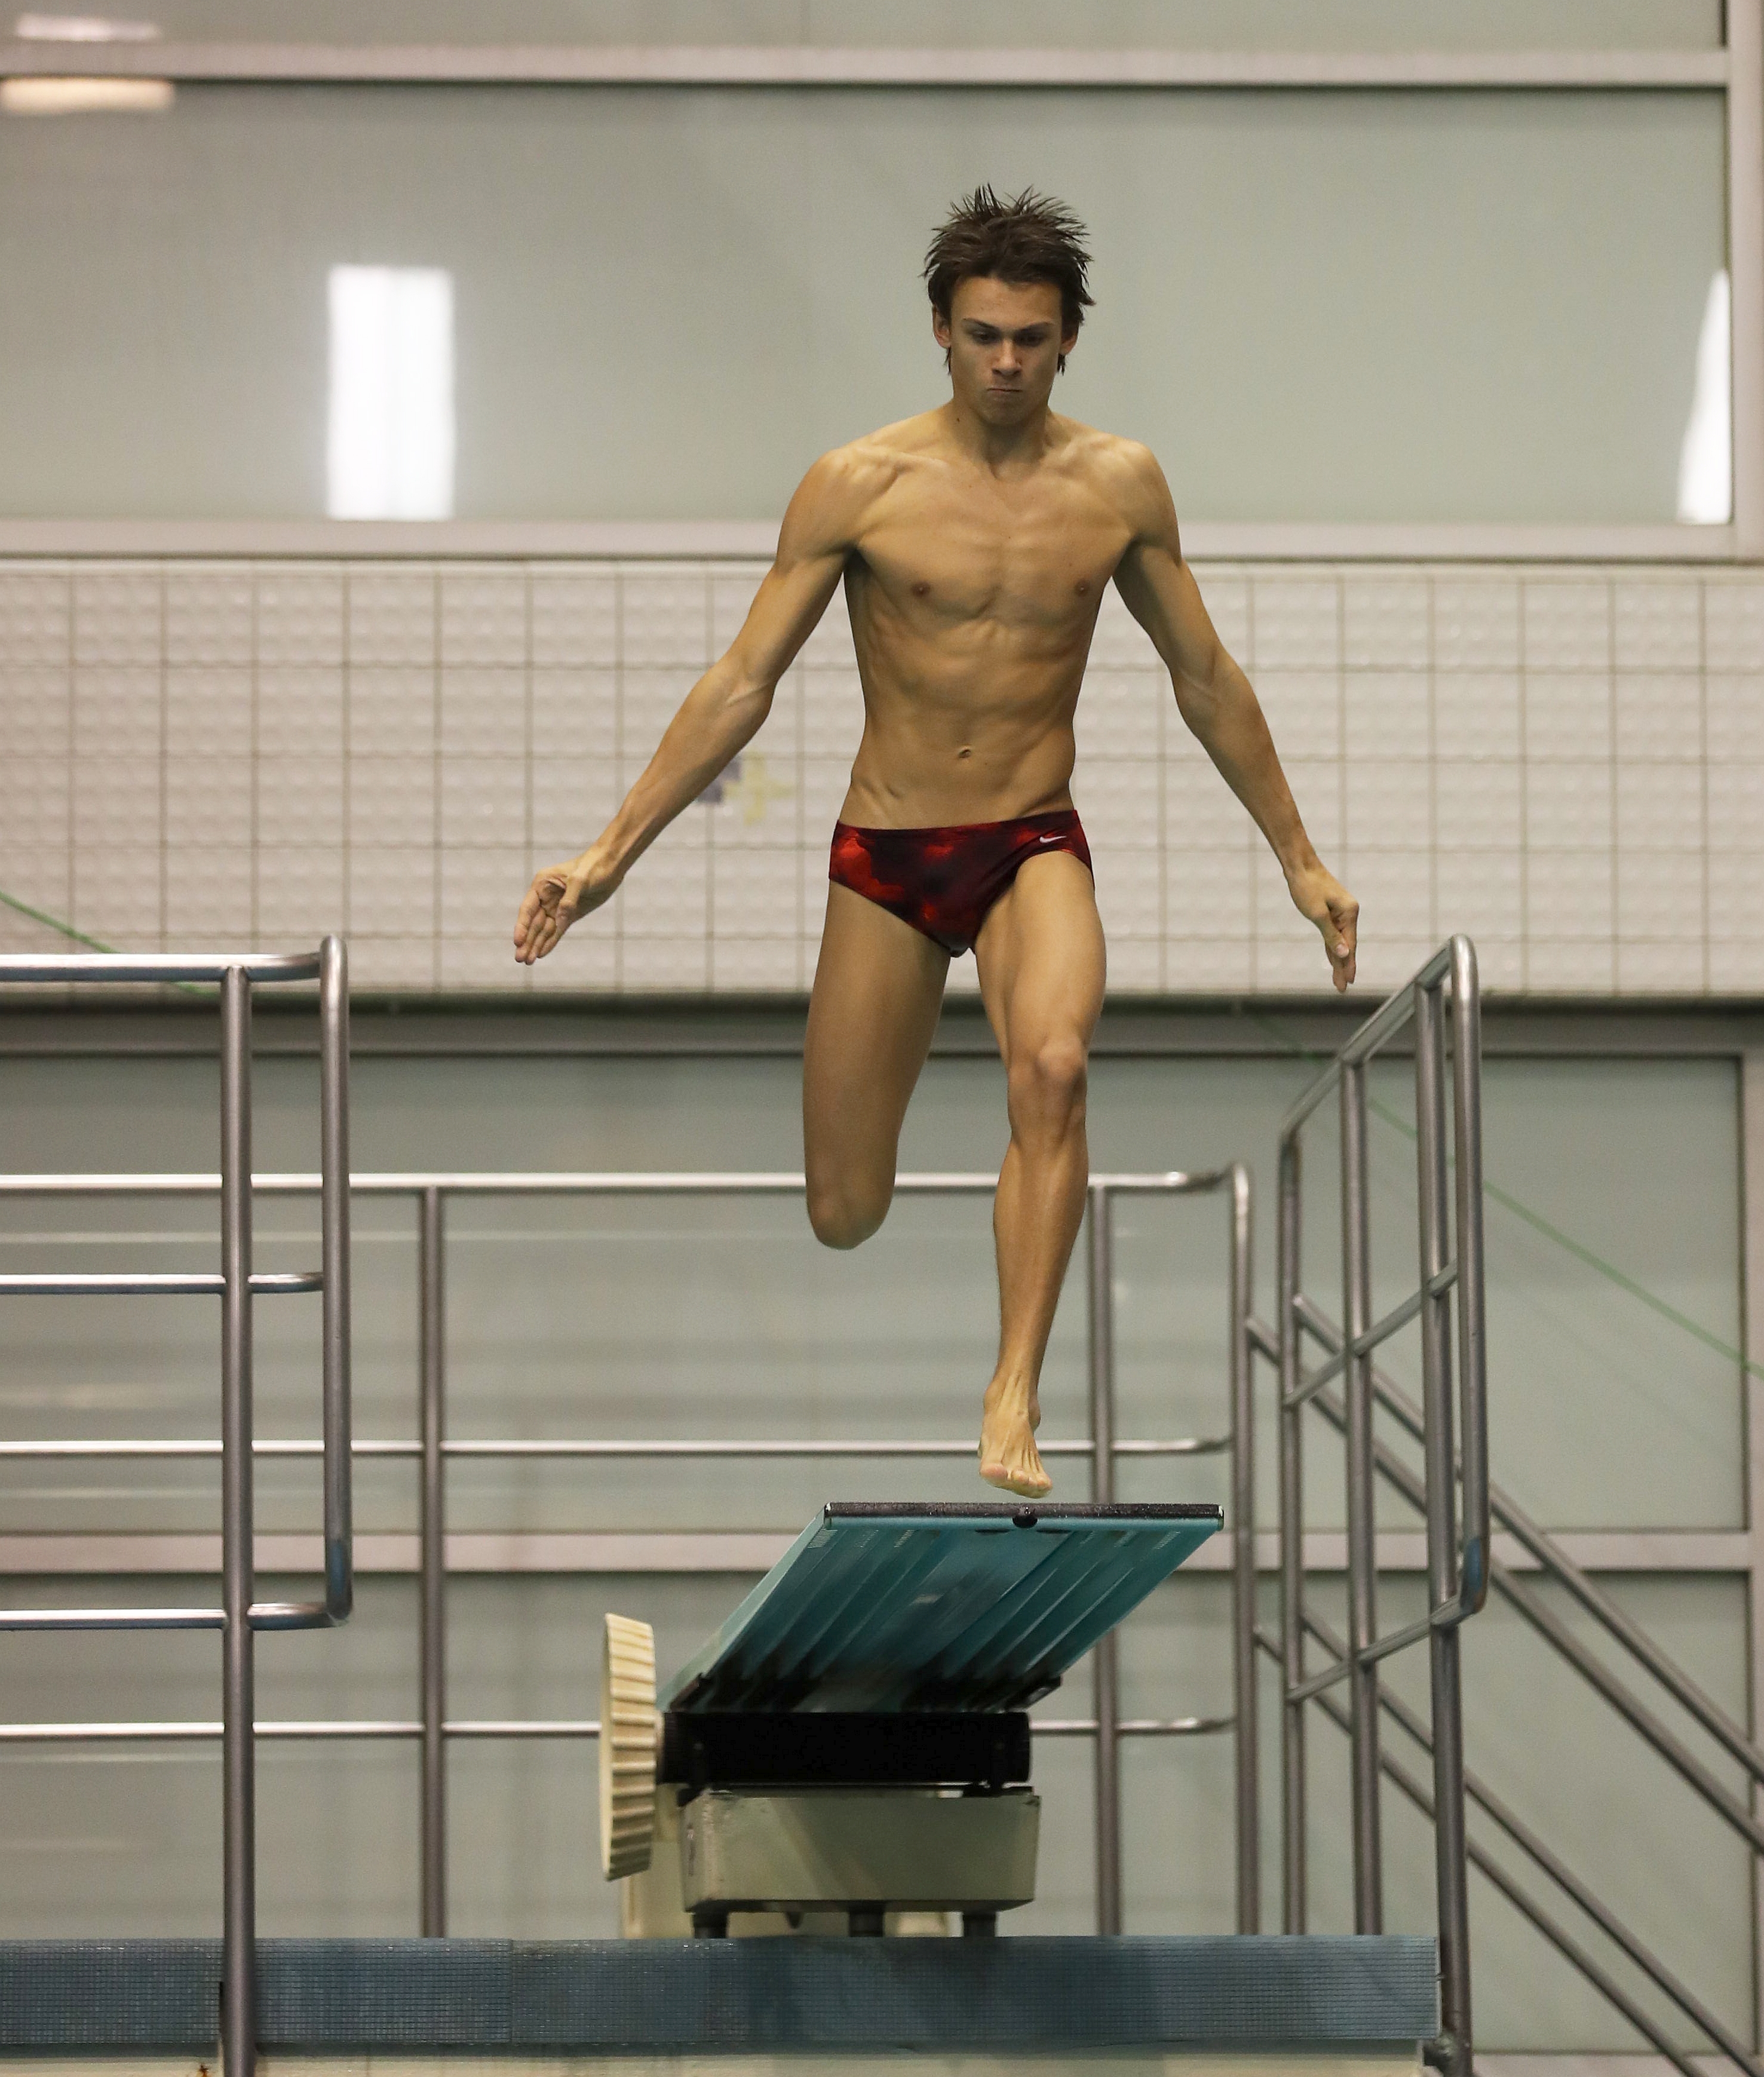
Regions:
<instances>
[{"instance_id":1,"label":"bright white rectangular light reflection left of the diver's head","mask_svg":"<svg viewBox=\"0 0 1764 2077\"><path fill-rule=\"evenodd\" d=\"M453 517L453 276L330 270L332 519Z\"/></svg>"}]
</instances>

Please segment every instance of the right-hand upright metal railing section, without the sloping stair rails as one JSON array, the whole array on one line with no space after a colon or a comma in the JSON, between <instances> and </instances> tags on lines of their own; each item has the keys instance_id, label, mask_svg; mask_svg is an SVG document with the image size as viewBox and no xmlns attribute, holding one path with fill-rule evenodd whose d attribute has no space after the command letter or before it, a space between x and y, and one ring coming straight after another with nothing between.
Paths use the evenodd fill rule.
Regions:
<instances>
[{"instance_id":1,"label":"right-hand upright metal railing section, without the sloping stair rails","mask_svg":"<svg viewBox=\"0 0 1764 2077\"><path fill-rule=\"evenodd\" d=\"M1446 1151L1446 991L1450 991L1450 1159ZM1371 1219L1367 1184L1367 1066L1415 1026L1417 1242L1415 1290L1371 1317ZM1340 1109L1342 1325L1326 1363L1301 1365L1301 1333L1315 1313L1301 1277L1301 1134L1321 1103ZM1427 1643L1434 1691L1434 1873L1440 1934L1442 2040L1432 2054L1450 2077L1471 2071L1469 1890L1465 1838L1463 1682L1459 1628L1488 1599L1488 1377L1481 1248L1481 999L1475 947L1452 937L1390 995L1311 1080L1280 1126L1280 1585L1282 1585L1282 1811L1284 1923L1307 1917L1305 1720L1307 1701L1332 1718L1326 1693L1348 1689L1353 1784L1355 1932L1384 1925L1380 1782L1382 1660ZM1378 1406L1373 1350L1411 1321L1421 1323L1425 1481L1413 1481L1427 1525L1427 1614L1380 1635L1375 1616ZM1456 1333L1452 1329L1456 1327ZM1315 1329L1311 1329L1315 1331ZM1452 1354L1459 1390L1452 1396ZM1340 1377L1340 1396L1330 1383ZM1348 1641L1334 1664L1305 1666L1303 1439L1305 1406L1338 1421L1346 1439ZM1454 1446L1452 1429L1461 1429ZM1461 1510L1461 1514L1459 1514ZM1461 1520L1461 1527L1459 1527Z\"/></svg>"}]
</instances>

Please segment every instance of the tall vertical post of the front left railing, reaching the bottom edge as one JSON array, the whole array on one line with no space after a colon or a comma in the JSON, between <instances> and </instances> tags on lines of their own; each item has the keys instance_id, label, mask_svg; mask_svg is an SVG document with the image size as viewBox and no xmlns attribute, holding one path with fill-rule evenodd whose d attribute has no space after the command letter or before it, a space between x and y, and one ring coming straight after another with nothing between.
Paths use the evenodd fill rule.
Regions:
<instances>
[{"instance_id":1,"label":"tall vertical post of the front left railing, reaching the bottom edge","mask_svg":"<svg viewBox=\"0 0 1764 2077\"><path fill-rule=\"evenodd\" d=\"M256 1693L251 1680L251 980L220 980L220 1778L226 2077L258 2060Z\"/></svg>"}]
</instances>

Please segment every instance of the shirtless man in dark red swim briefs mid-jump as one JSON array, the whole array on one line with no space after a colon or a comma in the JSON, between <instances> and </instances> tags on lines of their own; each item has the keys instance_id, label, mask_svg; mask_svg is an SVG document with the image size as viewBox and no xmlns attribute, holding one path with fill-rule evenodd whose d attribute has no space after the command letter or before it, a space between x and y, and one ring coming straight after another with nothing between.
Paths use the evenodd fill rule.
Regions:
<instances>
[{"instance_id":1,"label":"shirtless man in dark red swim briefs mid-jump","mask_svg":"<svg viewBox=\"0 0 1764 2077\"><path fill-rule=\"evenodd\" d=\"M999 1354L981 1477L1031 1498L1037 1383L1089 1180L1085 1070L1103 928L1072 806L1072 712L1103 586L1170 667L1176 708L1355 976L1359 903L1317 860L1261 706L1207 619L1145 447L1049 409L1078 339L1089 253L1060 204L966 197L925 262L950 403L823 455L729 652L698 679L607 829L536 874L515 957L542 960L611 899L767 719L839 584L864 735L833 831L802 1053L808 1219L854 1248L887 1217L906 1105L950 960L972 947L1004 1055L1010 1149L993 1203Z\"/></svg>"}]
</instances>

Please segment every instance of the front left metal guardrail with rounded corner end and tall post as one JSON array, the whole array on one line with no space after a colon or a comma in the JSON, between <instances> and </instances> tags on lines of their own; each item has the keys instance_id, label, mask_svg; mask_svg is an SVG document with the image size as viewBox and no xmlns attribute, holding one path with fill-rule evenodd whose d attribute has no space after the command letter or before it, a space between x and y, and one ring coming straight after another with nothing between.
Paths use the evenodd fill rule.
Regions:
<instances>
[{"instance_id":1,"label":"front left metal guardrail with rounded corner end and tall post","mask_svg":"<svg viewBox=\"0 0 1764 2077\"><path fill-rule=\"evenodd\" d=\"M0 982L218 982L220 1269L212 1275L8 1275L8 1294L212 1294L220 1298L220 1608L8 1608L6 1630L220 1630L222 2000L229 2077L256 2065L258 1630L343 1622L353 1603L349 1433L349 966L343 941L316 953L6 953ZM316 980L320 1022L320 1259L301 1275L251 1273L251 989ZM64 1178L66 1180L66 1178ZM127 1184L129 1178L108 1178ZM258 1601L251 1554L251 1300L324 1294L324 1597Z\"/></svg>"}]
</instances>

